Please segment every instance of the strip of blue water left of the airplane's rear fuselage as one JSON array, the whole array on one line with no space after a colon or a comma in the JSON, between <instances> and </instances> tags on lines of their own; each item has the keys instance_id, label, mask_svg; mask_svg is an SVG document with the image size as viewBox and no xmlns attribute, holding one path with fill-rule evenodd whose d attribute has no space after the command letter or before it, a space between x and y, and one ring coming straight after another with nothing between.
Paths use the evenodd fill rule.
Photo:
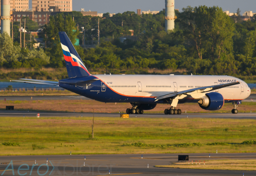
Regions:
<instances>
[{"instance_id":1,"label":"strip of blue water left of the airplane's rear fuselage","mask_svg":"<svg viewBox=\"0 0 256 176\"><path fill-rule=\"evenodd\" d=\"M53 86L53 85L43 85L43 84L29 84L29 83L23 83L23 82L0 82L0 90L4 90L4 88L7 88L8 85L12 85L13 89L23 89L25 88L26 90L33 90L34 87L36 87L36 89L48 89L48 88L55 88L55 89L59 89L59 90L63 90L63 88L60 88L59 86Z\"/></svg>"}]
</instances>

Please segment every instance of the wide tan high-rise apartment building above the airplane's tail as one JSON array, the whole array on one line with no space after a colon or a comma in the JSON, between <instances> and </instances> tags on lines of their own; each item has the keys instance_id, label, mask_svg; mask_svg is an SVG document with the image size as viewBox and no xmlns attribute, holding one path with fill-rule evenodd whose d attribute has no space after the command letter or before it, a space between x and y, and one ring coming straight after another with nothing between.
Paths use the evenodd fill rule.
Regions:
<instances>
[{"instance_id":1,"label":"wide tan high-rise apartment building above the airplane's tail","mask_svg":"<svg viewBox=\"0 0 256 176\"><path fill-rule=\"evenodd\" d=\"M43 9L44 11L49 11L50 6L59 7L61 12L71 12L72 11L72 0L65 0L65 1L32 0L32 10L33 11L36 11L36 8L38 9L38 11L41 11L41 9Z\"/></svg>"}]
</instances>

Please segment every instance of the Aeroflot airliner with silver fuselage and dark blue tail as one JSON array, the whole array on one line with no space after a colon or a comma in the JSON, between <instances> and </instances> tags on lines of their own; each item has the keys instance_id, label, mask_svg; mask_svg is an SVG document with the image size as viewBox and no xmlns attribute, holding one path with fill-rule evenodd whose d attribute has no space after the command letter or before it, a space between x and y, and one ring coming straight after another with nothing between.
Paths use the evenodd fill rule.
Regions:
<instances>
[{"instance_id":1,"label":"Aeroflot airliner with silver fuselage and dark blue tail","mask_svg":"<svg viewBox=\"0 0 256 176\"><path fill-rule=\"evenodd\" d=\"M233 104L237 114L241 101L249 97L248 85L233 76L201 75L91 75L65 32L59 32L68 79L58 82L35 79L14 80L31 84L60 86L92 100L105 103L130 103L127 114L143 114L157 104L169 104L164 114L181 114L178 104L195 102L215 111L224 102Z\"/></svg>"}]
</instances>

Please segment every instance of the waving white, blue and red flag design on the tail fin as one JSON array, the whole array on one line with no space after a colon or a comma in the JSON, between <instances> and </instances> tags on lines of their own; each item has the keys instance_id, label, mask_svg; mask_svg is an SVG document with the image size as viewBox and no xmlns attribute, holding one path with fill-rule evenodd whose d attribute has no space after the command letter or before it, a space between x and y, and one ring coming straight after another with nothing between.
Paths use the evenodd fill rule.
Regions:
<instances>
[{"instance_id":1,"label":"waving white, blue and red flag design on the tail fin","mask_svg":"<svg viewBox=\"0 0 256 176\"><path fill-rule=\"evenodd\" d=\"M68 62L71 62L72 66L81 67L88 73L88 70L84 66L84 63L81 62L81 60L78 59L74 54L70 53L67 46L65 46L62 43L60 43L60 44L61 44L61 48L62 48L62 51L63 51L64 59Z\"/></svg>"}]
</instances>

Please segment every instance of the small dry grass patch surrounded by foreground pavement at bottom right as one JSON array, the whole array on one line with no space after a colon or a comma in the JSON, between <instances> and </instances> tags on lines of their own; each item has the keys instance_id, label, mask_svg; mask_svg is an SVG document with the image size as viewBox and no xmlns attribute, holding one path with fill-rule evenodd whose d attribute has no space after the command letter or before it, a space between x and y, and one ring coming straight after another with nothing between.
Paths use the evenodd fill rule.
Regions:
<instances>
[{"instance_id":1,"label":"small dry grass patch surrounded by foreground pavement at bottom right","mask_svg":"<svg viewBox=\"0 0 256 176\"><path fill-rule=\"evenodd\" d=\"M256 170L256 160L209 160L194 161L192 165L190 163L172 163L170 165L157 165L156 167L167 167L167 168L180 168L180 169L213 169L213 170L243 170L243 171L255 171Z\"/></svg>"}]
</instances>

